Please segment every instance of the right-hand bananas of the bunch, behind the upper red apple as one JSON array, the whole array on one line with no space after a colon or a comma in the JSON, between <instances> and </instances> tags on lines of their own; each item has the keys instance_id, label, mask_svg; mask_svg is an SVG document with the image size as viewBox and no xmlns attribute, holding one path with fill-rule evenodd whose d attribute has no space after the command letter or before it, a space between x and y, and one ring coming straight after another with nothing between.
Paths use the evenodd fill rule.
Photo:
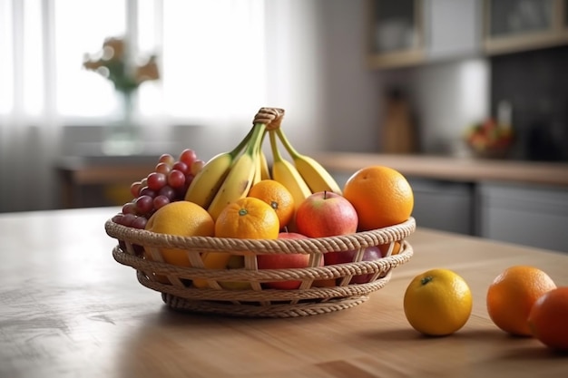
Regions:
<instances>
[{"instance_id":1,"label":"right-hand bananas of the bunch, behind the upper red apple","mask_svg":"<svg viewBox=\"0 0 568 378\"><path fill-rule=\"evenodd\" d=\"M276 136L279 137L279 140L289 152L290 157L294 161L293 166L289 163L289 161L281 158L278 147L276 146ZM270 145L272 146L272 152L275 160L272 175L276 180L279 180L277 177L286 178L285 181L282 181L282 183L287 188L299 188L298 191L302 191L302 196L305 195L306 192L308 192L309 195L311 193L324 190L341 194L338 182L329 174L328 170L323 168L317 160L310 158L309 156L302 155L294 149L281 128L270 131ZM276 165L277 155L279 160L278 168ZM306 190L306 188L308 189ZM301 196L299 196L299 198L301 198ZM296 198L294 199L296 200Z\"/></svg>"}]
</instances>

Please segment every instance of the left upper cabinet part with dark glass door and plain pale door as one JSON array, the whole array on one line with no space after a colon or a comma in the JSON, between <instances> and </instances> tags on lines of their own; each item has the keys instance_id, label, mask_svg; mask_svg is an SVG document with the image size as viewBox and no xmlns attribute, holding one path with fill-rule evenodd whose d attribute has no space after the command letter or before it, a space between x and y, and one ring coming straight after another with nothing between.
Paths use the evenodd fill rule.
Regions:
<instances>
[{"instance_id":1,"label":"left upper cabinet part with dark glass door and plain pale door","mask_svg":"<svg viewBox=\"0 0 568 378\"><path fill-rule=\"evenodd\" d=\"M368 0L371 68L479 53L480 0Z\"/></svg>"}]
</instances>

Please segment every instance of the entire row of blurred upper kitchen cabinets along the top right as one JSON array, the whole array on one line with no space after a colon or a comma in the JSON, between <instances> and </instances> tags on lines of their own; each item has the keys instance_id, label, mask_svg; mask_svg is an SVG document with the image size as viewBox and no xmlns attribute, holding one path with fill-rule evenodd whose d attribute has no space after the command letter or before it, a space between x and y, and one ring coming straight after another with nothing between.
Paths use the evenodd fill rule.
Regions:
<instances>
[{"instance_id":1,"label":"entire row of blurred upper kitchen cabinets along the top right","mask_svg":"<svg viewBox=\"0 0 568 378\"><path fill-rule=\"evenodd\" d=\"M367 0L367 15L370 68L568 44L568 0Z\"/></svg>"}]
</instances>

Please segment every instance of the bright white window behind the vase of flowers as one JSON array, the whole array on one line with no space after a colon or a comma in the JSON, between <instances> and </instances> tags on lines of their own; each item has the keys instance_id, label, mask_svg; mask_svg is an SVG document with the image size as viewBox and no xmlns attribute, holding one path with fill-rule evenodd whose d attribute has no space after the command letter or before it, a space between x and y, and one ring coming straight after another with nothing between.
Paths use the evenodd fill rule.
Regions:
<instances>
[{"instance_id":1,"label":"bright white window behind the vase of flowers","mask_svg":"<svg viewBox=\"0 0 568 378\"><path fill-rule=\"evenodd\" d=\"M112 83L82 66L109 36L158 54L161 80L138 93L144 119L249 119L264 104L261 0L0 0L0 117L113 116Z\"/></svg>"}]
</instances>

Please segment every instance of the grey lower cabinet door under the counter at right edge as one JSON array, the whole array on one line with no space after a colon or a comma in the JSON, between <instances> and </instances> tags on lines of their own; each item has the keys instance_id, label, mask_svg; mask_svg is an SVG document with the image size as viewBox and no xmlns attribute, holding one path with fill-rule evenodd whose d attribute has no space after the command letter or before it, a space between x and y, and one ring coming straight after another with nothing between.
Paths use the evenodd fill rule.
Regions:
<instances>
[{"instance_id":1,"label":"grey lower cabinet door under the counter at right edge","mask_svg":"<svg viewBox=\"0 0 568 378\"><path fill-rule=\"evenodd\" d=\"M482 237L568 252L568 189L480 184Z\"/></svg>"}]
</instances>

